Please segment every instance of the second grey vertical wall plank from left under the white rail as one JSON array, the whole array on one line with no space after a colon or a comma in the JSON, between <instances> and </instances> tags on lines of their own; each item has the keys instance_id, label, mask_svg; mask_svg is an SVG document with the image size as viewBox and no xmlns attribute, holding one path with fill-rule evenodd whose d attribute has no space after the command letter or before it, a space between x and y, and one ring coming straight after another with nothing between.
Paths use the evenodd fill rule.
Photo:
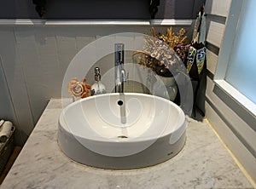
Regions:
<instances>
[{"instance_id":1,"label":"second grey vertical wall plank from left under the white rail","mask_svg":"<svg viewBox=\"0 0 256 189\"><path fill-rule=\"evenodd\" d=\"M20 62L24 67L26 78L27 94L32 106L33 119L37 120L38 115L43 111L42 104L45 105L44 96L47 90L47 83L44 78L44 66L40 64L38 58L38 43L34 30L28 28L15 29L17 49L20 54Z\"/></svg>"}]
</instances>

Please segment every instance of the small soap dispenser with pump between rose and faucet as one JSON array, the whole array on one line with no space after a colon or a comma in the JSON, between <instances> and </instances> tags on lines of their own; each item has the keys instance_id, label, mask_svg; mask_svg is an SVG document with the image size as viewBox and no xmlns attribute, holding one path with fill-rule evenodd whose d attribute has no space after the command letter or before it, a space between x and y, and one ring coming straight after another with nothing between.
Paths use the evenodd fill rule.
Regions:
<instances>
[{"instance_id":1,"label":"small soap dispenser with pump between rose and faucet","mask_svg":"<svg viewBox=\"0 0 256 189\"><path fill-rule=\"evenodd\" d=\"M96 94L105 94L107 93L105 85L101 81L101 74L100 74L100 68L96 67L94 69L95 72L95 83L91 85L90 89L90 95L96 95Z\"/></svg>"}]
</instances>

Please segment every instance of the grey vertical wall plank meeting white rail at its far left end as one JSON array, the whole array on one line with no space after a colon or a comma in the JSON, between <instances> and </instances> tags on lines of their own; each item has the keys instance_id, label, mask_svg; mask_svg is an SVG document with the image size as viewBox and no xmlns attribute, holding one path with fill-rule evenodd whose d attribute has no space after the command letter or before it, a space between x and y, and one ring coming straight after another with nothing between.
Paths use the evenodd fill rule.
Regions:
<instances>
[{"instance_id":1,"label":"grey vertical wall plank meeting white rail at its far left end","mask_svg":"<svg viewBox=\"0 0 256 189\"><path fill-rule=\"evenodd\" d=\"M16 112L17 127L22 129L26 135L29 135L33 129L34 121L23 72L26 68L21 65L15 39L13 28L1 27L0 54L3 72L5 72L10 96Z\"/></svg>"}]
</instances>

